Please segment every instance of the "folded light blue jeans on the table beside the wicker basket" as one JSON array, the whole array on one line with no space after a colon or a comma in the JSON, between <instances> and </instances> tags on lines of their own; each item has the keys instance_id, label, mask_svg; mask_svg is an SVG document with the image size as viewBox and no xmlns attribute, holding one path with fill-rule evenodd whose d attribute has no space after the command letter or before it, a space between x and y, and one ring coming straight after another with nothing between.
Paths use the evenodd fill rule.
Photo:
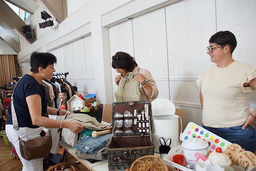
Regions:
<instances>
[{"instance_id":1,"label":"folded light blue jeans on the table beside the wicker basket","mask_svg":"<svg viewBox=\"0 0 256 171\"><path fill-rule=\"evenodd\" d=\"M93 138L92 136L84 136L76 143L75 147L83 153L95 154L96 151L107 145L108 139L111 136L112 134L100 135L96 138Z\"/></svg>"}]
</instances>

